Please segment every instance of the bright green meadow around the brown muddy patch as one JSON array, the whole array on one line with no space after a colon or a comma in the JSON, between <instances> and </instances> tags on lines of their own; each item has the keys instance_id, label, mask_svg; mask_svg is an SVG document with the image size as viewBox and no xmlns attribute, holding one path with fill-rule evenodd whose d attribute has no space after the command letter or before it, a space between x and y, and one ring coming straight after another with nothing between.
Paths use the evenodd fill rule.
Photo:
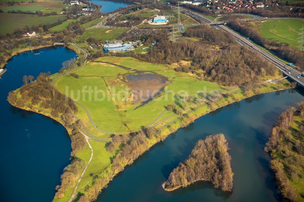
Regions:
<instances>
[{"instance_id":1,"label":"bright green meadow around the brown muddy patch","mask_svg":"<svg viewBox=\"0 0 304 202\"><path fill-rule=\"evenodd\" d=\"M126 68L105 62L121 65ZM138 71L143 71L144 74L156 73L164 76L168 79L165 85L168 88L168 92L174 93L169 93L167 95L168 99L166 99L167 96L163 92L159 97L161 99L152 100L143 106L141 106L141 102L133 103L133 99L130 99L129 95L131 87L126 78L130 75L138 75ZM78 71L77 74L80 76L79 79L75 79L72 76L64 76L55 82L55 86L61 92L65 92L66 86L68 86L69 96L73 92L73 96L71 97L77 99L78 103L82 106L85 106L94 124L110 133L128 132L150 125L157 120L158 116L164 113L164 106L179 102L175 96L172 98L172 95L181 93L179 92L180 90L185 90L189 95L195 96L196 91L203 90L204 87L206 87L207 91L215 89L222 91L224 89L223 86L215 83L199 80L195 76L190 76L183 72L176 72L174 66L142 62L133 58L98 58L95 59L95 62L87 62L86 67ZM76 93L78 90L81 92L84 86L86 88L91 86L92 90L96 86L97 90L102 90L105 92L105 95L109 93L108 95L110 96L105 96L105 99L98 101L95 100L95 96L93 95L91 100L89 100L88 95ZM101 99L102 97L103 95L100 93L98 98ZM178 103L178 105L181 107L183 104ZM171 115L174 113L171 111L166 114ZM80 110L77 116L88 126L88 130L92 134L95 134L94 131L96 132L96 129L89 123L87 114L83 110Z\"/></svg>"}]
</instances>

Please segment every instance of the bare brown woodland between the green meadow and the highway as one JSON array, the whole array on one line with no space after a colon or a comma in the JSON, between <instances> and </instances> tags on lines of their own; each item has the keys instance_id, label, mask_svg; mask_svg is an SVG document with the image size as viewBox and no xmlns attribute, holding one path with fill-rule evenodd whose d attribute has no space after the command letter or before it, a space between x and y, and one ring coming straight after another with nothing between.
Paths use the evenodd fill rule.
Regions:
<instances>
[{"instance_id":1,"label":"bare brown woodland between the green meadow and the highway","mask_svg":"<svg viewBox=\"0 0 304 202\"><path fill-rule=\"evenodd\" d=\"M145 45L157 40L147 54L134 52L115 53L115 56L131 56L146 62L172 64L181 60L191 61L191 65L180 65L176 71L192 72L199 78L217 82L225 86L254 83L265 76L275 75L276 68L260 54L236 44L235 40L223 31L206 27L189 27L184 33L188 37L201 38L196 43L168 41L162 32L151 34L144 42ZM221 44L219 50L212 46ZM108 55L111 55L109 53ZM104 53L91 55L90 59L105 56ZM202 70L205 73L202 73Z\"/></svg>"}]
</instances>

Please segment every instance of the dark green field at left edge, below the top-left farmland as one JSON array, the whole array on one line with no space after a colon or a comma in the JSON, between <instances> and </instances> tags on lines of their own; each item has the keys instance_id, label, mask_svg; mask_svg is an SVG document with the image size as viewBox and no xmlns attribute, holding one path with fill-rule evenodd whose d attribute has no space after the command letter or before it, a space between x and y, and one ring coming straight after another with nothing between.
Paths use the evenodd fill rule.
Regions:
<instances>
[{"instance_id":1,"label":"dark green field at left edge, below the top-left farmland","mask_svg":"<svg viewBox=\"0 0 304 202\"><path fill-rule=\"evenodd\" d=\"M66 16L41 16L15 14L15 13L0 13L0 33L5 34L13 32L17 28L22 28L25 25L52 24L58 19L65 19Z\"/></svg>"}]
</instances>

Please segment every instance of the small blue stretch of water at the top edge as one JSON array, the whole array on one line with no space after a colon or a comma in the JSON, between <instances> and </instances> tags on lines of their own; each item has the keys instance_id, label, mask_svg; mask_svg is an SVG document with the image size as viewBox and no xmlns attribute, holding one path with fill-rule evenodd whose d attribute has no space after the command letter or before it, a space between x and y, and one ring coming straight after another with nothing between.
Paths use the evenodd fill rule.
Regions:
<instances>
[{"instance_id":1,"label":"small blue stretch of water at the top edge","mask_svg":"<svg viewBox=\"0 0 304 202\"><path fill-rule=\"evenodd\" d=\"M132 2L126 2L121 0L89 0L89 1L97 5L102 5L100 9L102 13L111 12L118 8L124 8L126 6L133 4Z\"/></svg>"}]
</instances>

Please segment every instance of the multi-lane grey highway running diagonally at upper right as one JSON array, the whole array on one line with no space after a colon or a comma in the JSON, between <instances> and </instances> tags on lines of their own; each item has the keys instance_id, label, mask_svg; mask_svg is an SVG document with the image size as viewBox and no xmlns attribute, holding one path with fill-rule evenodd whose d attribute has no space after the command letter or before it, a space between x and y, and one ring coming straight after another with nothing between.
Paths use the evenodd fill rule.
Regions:
<instances>
[{"instance_id":1,"label":"multi-lane grey highway running diagonally at upper right","mask_svg":"<svg viewBox=\"0 0 304 202\"><path fill-rule=\"evenodd\" d=\"M172 8L178 9L178 7L176 7L176 6L172 6ZM188 10L186 10L184 8L180 8L180 10L185 12L187 15L190 15L190 16L192 16L196 19L199 19L201 21L204 21L208 24L214 23L214 21L212 21L212 20L210 20L210 19L208 19L208 18L204 17L203 15L200 15L196 12L189 12ZM294 80L299 85L304 87L304 77L299 76L301 74L301 72L299 72L298 70L292 68L289 65L286 65L285 63L281 62L279 59L275 58L274 56L271 56L269 53L267 53L264 50L261 50L260 48L256 47L249 40L245 39L244 37L242 37L238 33L234 32L233 30L227 28L226 26L224 26L224 25L212 25L212 26L215 27L216 29L221 29L221 30L223 30L225 32L228 32L229 34L233 35L237 39L237 41L240 45L248 46L249 49L251 49L255 52L259 52L266 60L273 63L275 65L275 67L278 68L279 70L281 70L286 76L288 76L290 79ZM290 74L288 72L290 72Z\"/></svg>"}]
</instances>

